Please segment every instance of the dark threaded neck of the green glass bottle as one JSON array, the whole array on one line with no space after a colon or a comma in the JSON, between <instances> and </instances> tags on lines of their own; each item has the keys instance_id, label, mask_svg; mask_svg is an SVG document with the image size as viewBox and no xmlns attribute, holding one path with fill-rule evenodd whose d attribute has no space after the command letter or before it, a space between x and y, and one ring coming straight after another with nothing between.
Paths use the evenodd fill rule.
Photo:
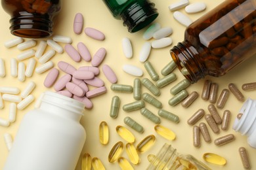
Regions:
<instances>
[{"instance_id":1,"label":"dark threaded neck of the green glass bottle","mask_svg":"<svg viewBox=\"0 0 256 170\"><path fill-rule=\"evenodd\" d=\"M158 17L154 3L148 1L136 2L129 6L122 14L123 25L128 27L130 33L135 33L146 27Z\"/></svg>"}]
</instances>

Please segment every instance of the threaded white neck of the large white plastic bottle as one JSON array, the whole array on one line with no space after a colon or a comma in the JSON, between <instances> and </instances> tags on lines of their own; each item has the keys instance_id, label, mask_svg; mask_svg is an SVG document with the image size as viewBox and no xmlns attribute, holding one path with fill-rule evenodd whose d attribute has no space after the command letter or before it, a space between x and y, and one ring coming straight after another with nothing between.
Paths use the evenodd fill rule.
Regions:
<instances>
[{"instance_id":1,"label":"threaded white neck of the large white plastic bottle","mask_svg":"<svg viewBox=\"0 0 256 170\"><path fill-rule=\"evenodd\" d=\"M39 109L79 122L85 105L75 99L54 92L45 92Z\"/></svg>"}]
</instances>

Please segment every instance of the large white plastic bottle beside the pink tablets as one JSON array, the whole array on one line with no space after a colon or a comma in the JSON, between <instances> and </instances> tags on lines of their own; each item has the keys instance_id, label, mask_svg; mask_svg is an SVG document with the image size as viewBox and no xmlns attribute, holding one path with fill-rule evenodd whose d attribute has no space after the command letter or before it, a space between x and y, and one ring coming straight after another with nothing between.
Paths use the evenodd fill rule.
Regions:
<instances>
[{"instance_id":1,"label":"large white plastic bottle beside the pink tablets","mask_svg":"<svg viewBox=\"0 0 256 170\"><path fill-rule=\"evenodd\" d=\"M86 138L79 124L84 107L64 95L45 92L40 107L24 116L3 169L75 169Z\"/></svg>"}]
</instances>

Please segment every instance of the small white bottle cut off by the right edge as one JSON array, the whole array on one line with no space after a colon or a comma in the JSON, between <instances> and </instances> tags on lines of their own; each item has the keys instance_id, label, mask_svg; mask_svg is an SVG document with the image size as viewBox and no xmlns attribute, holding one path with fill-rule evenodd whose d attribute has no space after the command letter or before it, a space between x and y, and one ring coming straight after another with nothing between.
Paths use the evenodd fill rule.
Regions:
<instances>
[{"instance_id":1,"label":"small white bottle cut off by the right edge","mask_svg":"<svg viewBox=\"0 0 256 170\"><path fill-rule=\"evenodd\" d=\"M233 129L246 135L247 143L256 148L256 100L247 99L240 109L241 118L236 118Z\"/></svg>"}]
</instances>

